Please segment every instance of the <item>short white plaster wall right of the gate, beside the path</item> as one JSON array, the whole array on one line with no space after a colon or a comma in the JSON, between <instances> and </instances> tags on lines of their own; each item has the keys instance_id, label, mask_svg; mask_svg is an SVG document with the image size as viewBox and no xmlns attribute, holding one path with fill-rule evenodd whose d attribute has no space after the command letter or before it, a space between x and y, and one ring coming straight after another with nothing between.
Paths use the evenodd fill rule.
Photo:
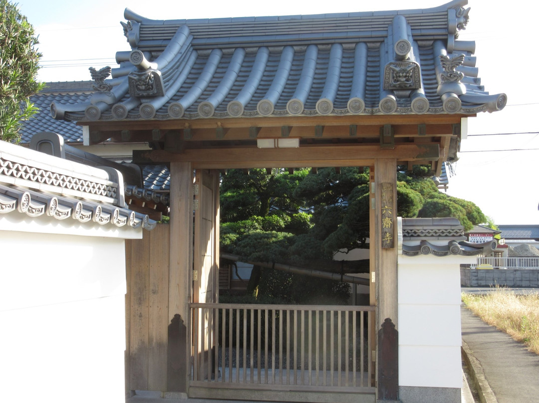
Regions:
<instances>
[{"instance_id":1,"label":"short white plaster wall right of the gate, beside the path","mask_svg":"<svg viewBox=\"0 0 539 403\"><path fill-rule=\"evenodd\" d=\"M399 386L462 387L463 256L398 259Z\"/></svg>"}]
</instances>

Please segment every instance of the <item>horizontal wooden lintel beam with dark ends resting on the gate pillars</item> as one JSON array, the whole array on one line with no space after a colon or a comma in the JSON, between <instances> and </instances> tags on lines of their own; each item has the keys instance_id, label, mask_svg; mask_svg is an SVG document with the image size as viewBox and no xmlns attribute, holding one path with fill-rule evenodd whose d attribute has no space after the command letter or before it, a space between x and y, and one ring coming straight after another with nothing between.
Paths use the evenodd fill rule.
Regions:
<instances>
[{"instance_id":1,"label":"horizontal wooden lintel beam with dark ends resting on the gate pillars","mask_svg":"<svg viewBox=\"0 0 539 403\"><path fill-rule=\"evenodd\" d=\"M198 169L367 166L377 158L398 161L434 161L439 158L439 145L403 143L393 149L381 149L378 144L307 145L299 148L227 147L185 148L179 154L164 150L134 151L133 160L140 164L191 162Z\"/></svg>"}]
</instances>

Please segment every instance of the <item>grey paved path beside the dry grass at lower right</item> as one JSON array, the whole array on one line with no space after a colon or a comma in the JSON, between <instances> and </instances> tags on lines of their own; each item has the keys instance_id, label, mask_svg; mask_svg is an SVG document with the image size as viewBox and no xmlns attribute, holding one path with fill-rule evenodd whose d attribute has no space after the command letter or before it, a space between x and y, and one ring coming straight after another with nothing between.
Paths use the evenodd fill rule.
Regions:
<instances>
[{"instance_id":1,"label":"grey paved path beside the dry grass at lower right","mask_svg":"<svg viewBox=\"0 0 539 403\"><path fill-rule=\"evenodd\" d=\"M479 360L498 403L539 403L539 356L464 306L462 339Z\"/></svg>"}]
</instances>

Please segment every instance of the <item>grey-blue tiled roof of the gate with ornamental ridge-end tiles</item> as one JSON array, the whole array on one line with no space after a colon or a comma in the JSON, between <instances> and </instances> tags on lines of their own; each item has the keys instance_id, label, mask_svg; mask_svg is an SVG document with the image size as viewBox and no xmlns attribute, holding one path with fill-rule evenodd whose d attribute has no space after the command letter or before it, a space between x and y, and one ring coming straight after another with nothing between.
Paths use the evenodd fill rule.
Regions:
<instances>
[{"instance_id":1,"label":"grey-blue tiled roof of the gate with ornamental ridge-end tiles","mask_svg":"<svg viewBox=\"0 0 539 403\"><path fill-rule=\"evenodd\" d=\"M103 92L51 112L81 121L493 112L505 94L485 91L475 44L455 40L465 4L202 20L126 10L133 50L116 53L114 81L105 75Z\"/></svg>"}]
</instances>

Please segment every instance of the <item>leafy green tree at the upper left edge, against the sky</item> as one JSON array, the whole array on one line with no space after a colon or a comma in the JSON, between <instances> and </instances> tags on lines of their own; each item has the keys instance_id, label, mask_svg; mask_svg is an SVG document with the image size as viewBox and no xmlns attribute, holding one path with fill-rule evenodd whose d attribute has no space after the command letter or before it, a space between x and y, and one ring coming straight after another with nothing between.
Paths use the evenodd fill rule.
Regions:
<instances>
[{"instance_id":1,"label":"leafy green tree at the upper left edge, against the sky","mask_svg":"<svg viewBox=\"0 0 539 403\"><path fill-rule=\"evenodd\" d=\"M17 143L22 122L37 112L29 98L44 86L36 81L37 44L17 5L0 0L0 140Z\"/></svg>"}]
</instances>

